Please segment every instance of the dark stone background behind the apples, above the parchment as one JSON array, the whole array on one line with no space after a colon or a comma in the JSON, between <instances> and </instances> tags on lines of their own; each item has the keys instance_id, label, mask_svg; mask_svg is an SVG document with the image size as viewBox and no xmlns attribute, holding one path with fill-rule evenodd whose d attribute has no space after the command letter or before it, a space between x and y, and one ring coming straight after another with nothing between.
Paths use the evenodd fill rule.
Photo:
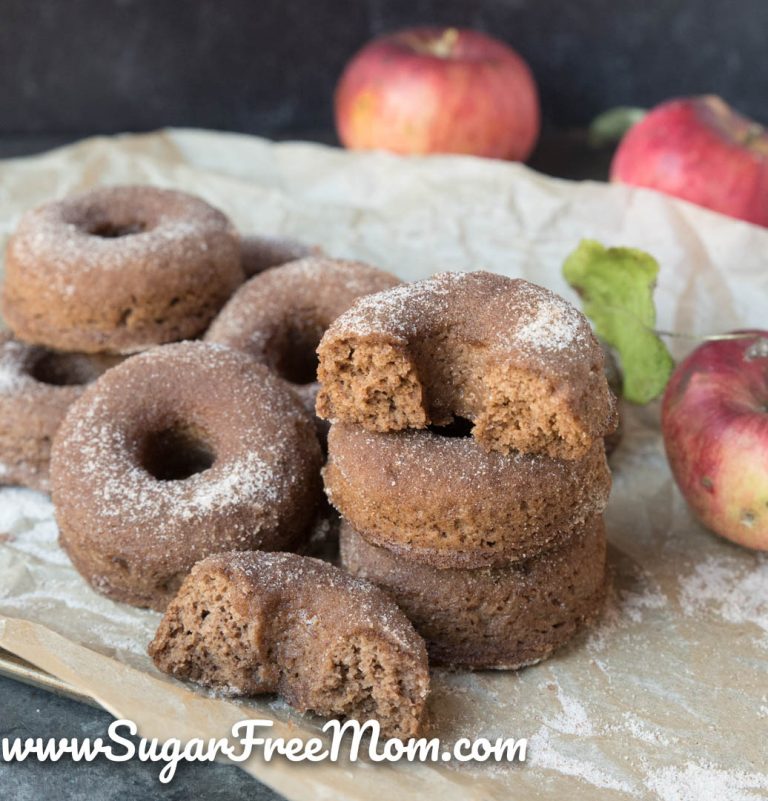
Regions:
<instances>
[{"instance_id":1,"label":"dark stone background behind the apples, above the parchment","mask_svg":"<svg viewBox=\"0 0 768 801\"><path fill-rule=\"evenodd\" d=\"M550 127L701 92L765 117L763 0L3 0L0 131L332 130L345 61L417 23L511 43Z\"/></svg>"}]
</instances>

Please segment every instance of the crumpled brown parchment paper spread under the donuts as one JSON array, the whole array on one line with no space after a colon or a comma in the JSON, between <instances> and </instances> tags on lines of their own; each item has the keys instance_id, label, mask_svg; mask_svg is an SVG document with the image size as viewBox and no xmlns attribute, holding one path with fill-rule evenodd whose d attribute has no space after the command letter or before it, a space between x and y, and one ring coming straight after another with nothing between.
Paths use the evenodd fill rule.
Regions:
<instances>
[{"instance_id":1,"label":"crumpled brown parchment paper spread under the donuts","mask_svg":"<svg viewBox=\"0 0 768 801\"><path fill-rule=\"evenodd\" d=\"M644 190L471 158L186 130L91 139L0 163L0 239L29 206L124 182L197 192L244 232L300 237L405 279L484 268L568 296L560 266L581 238L633 245L661 262L662 327L768 325L768 231ZM657 405L628 411L612 467L614 581L602 621L526 670L434 673L432 734L526 737L526 763L253 759L246 769L291 799L768 798L768 557L691 518L670 478ZM235 703L158 673L145 655L158 616L84 584L57 548L44 496L0 489L0 534L2 647L147 736L219 737L245 717L274 719L278 735L317 731L280 701Z\"/></svg>"}]
</instances>

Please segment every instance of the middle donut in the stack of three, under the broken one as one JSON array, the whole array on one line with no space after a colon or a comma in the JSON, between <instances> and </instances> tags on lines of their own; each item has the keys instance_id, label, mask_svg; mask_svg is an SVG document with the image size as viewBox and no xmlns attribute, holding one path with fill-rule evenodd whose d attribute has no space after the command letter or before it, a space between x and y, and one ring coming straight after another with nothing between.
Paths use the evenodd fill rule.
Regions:
<instances>
[{"instance_id":1,"label":"middle donut in the stack of three, under the broken one","mask_svg":"<svg viewBox=\"0 0 768 801\"><path fill-rule=\"evenodd\" d=\"M344 423L331 426L323 479L366 539L441 568L525 559L602 512L611 489L602 441L573 461L486 451L431 429L380 434Z\"/></svg>"}]
</instances>

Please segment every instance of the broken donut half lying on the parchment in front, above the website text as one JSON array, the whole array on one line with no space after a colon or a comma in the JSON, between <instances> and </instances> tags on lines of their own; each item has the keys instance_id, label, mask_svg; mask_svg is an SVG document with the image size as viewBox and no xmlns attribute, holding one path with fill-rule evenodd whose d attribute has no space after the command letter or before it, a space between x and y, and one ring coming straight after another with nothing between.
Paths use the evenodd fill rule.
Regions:
<instances>
[{"instance_id":1,"label":"broken donut half lying on the parchment in front, above the website text","mask_svg":"<svg viewBox=\"0 0 768 801\"><path fill-rule=\"evenodd\" d=\"M424 641L394 601L295 554L228 553L195 565L149 654L207 687L376 719L388 737L419 733L429 692Z\"/></svg>"}]
</instances>

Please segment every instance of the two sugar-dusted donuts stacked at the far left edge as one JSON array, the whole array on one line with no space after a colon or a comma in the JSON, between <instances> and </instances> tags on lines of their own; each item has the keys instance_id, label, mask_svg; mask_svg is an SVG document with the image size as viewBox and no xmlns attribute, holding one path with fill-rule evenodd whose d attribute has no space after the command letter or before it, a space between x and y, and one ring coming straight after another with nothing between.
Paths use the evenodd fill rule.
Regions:
<instances>
[{"instance_id":1,"label":"two sugar-dusted donuts stacked at the far left edge","mask_svg":"<svg viewBox=\"0 0 768 801\"><path fill-rule=\"evenodd\" d=\"M182 192L108 187L23 215L2 290L0 482L48 490L53 437L85 385L201 334L243 278L232 224Z\"/></svg>"}]
</instances>

